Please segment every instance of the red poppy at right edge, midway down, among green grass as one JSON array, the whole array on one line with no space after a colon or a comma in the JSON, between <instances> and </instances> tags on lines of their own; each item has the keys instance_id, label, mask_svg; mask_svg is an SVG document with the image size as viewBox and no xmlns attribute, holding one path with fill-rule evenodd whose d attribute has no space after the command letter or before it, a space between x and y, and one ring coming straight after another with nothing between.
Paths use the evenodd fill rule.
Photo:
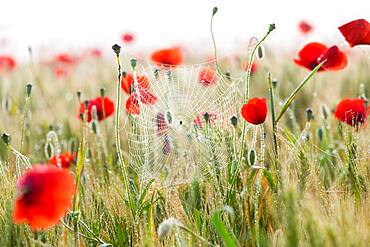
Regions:
<instances>
[{"instance_id":1,"label":"red poppy at right edge, midway down, among green grass","mask_svg":"<svg viewBox=\"0 0 370 247\"><path fill-rule=\"evenodd\" d=\"M367 110L363 99L343 99L337 105L335 117L351 126L363 124L367 119Z\"/></svg>"}]
</instances>

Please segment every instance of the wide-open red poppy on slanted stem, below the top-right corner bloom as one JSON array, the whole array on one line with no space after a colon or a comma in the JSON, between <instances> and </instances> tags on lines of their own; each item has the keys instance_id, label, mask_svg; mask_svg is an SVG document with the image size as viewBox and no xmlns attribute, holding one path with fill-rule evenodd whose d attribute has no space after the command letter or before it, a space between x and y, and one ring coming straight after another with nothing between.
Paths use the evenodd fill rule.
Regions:
<instances>
[{"instance_id":1,"label":"wide-open red poppy on slanted stem, below the top-right corner bloom","mask_svg":"<svg viewBox=\"0 0 370 247\"><path fill-rule=\"evenodd\" d=\"M294 62L313 70L321 61L327 59L319 71L341 70L347 66L347 56L337 46L327 48L324 44L312 42L304 46Z\"/></svg>"}]
</instances>

